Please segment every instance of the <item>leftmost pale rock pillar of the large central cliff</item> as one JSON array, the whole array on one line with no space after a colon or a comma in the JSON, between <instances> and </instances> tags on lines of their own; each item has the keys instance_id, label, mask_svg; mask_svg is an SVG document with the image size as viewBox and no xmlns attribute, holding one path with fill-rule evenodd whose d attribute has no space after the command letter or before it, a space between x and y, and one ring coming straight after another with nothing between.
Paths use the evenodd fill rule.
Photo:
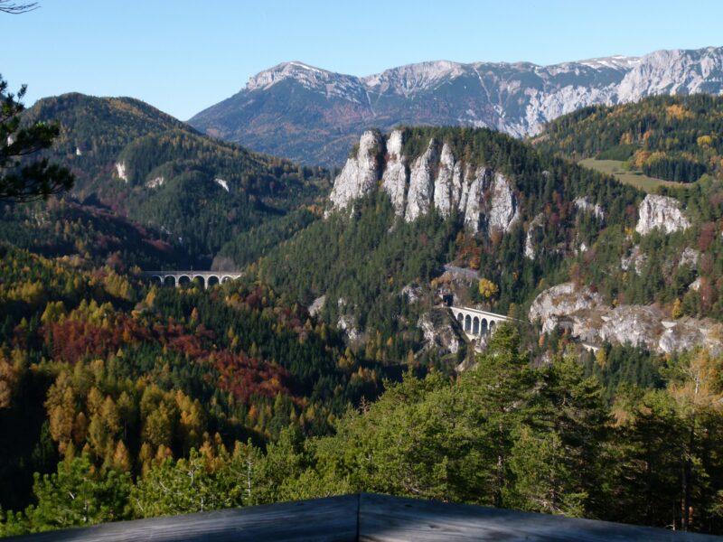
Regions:
<instances>
[{"instance_id":1,"label":"leftmost pale rock pillar of the large central cliff","mask_svg":"<svg viewBox=\"0 0 723 542\"><path fill-rule=\"evenodd\" d=\"M380 145L382 141L378 133L370 130L362 134L359 151L346 161L342 173L339 173L333 184L329 199L335 208L343 209L376 188L379 171L376 154Z\"/></svg>"}]
</instances>

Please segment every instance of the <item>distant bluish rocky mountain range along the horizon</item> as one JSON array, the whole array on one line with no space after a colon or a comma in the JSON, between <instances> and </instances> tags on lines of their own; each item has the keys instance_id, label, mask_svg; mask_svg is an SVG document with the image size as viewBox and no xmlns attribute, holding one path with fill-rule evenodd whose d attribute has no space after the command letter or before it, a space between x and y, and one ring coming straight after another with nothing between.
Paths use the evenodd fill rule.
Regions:
<instances>
[{"instance_id":1,"label":"distant bluish rocky mountain range along the horizon","mask_svg":"<svg viewBox=\"0 0 723 542\"><path fill-rule=\"evenodd\" d=\"M367 77L290 61L188 122L259 152L333 166L369 127L490 127L524 137L580 107L699 92L723 92L723 47L550 66L429 61Z\"/></svg>"}]
</instances>

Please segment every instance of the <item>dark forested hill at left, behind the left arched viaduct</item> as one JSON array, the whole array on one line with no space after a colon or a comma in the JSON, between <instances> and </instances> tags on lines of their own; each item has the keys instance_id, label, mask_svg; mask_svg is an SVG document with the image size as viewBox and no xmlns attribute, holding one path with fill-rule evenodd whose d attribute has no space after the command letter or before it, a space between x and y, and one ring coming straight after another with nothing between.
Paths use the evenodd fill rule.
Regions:
<instances>
[{"instance_id":1,"label":"dark forested hill at left, behind the left arched viaduct","mask_svg":"<svg viewBox=\"0 0 723 542\"><path fill-rule=\"evenodd\" d=\"M61 124L48 154L75 173L73 196L155 230L184 265L209 266L230 239L329 185L320 168L200 135L132 98L45 98L25 115L39 120Z\"/></svg>"}]
</instances>

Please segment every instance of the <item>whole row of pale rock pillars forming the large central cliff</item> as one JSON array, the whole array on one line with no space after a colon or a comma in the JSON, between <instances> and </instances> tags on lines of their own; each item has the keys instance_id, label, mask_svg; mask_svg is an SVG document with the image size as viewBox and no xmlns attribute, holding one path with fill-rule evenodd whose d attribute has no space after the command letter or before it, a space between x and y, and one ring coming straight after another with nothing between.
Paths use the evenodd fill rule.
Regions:
<instances>
[{"instance_id":1,"label":"whole row of pale rock pillars forming the large central cliff","mask_svg":"<svg viewBox=\"0 0 723 542\"><path fill-rule=\"evenodd\" d=\"M473 232L509 231L520 218L517 194L502 173L473 168L457 160L450 145L429 141L427 150L408 164L402 133L391 132L386 140L386 161L377 164L377 150L385 142L365 132L356 156L349 158L336 177L330 196L331 212L346 209L363 195L381 187L389 195L395 213L408 222L435 209L442 217L459 210ZM464 173L463 173L464 172Z\"/></svg>"}]
</instances>

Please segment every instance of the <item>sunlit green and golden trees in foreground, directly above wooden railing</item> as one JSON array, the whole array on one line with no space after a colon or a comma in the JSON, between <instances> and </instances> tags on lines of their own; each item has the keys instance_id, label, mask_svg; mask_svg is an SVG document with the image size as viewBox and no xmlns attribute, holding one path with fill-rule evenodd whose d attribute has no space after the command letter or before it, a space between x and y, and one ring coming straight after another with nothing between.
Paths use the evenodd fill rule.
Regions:
<instances>
[{"instance_id":1,"label":"sunlit green and golden trees in foreground, directly above wooden railing","mask_svg":"<svg viewBox=\"0 0 723 542\"><path fill-rule=\"evenodd\" d=\"M168 350L172 359L180 355ZM188 369L173 362L134 382L126 350L53 371L28 367L15 349L3 360L10 384L3 396L10 405L0 410L4 434L12 429L15 390L42 377L50 384L48 417L31 466L60 461L35 475L32 504L5 512L0 532L353 491L721 532L723 360L703 351L661 360L657 386L628 381L608 402L576 358L560 353L533 369L519 334L502 326L458 378L409 369L376 402L318 420L323 412L310 408L297 416L299 397L287 395L289 374L280 368L253 369L270 370L256 375L284 391L260 383L248 410L243 392L230 391L246 416L225 418L223 392L233 388L216 389L203 403L201 383L184 391ZM595 363L607 369L602 358ZM259 444L258 435L244 435L248 428L236 433L234 423L244 421L256 423L256 432L266 424L276 438ZM330 423L333 433L310 430L315 422ZM692 517L683 513L690 509Z\"/></svg>"}]
</instances>

